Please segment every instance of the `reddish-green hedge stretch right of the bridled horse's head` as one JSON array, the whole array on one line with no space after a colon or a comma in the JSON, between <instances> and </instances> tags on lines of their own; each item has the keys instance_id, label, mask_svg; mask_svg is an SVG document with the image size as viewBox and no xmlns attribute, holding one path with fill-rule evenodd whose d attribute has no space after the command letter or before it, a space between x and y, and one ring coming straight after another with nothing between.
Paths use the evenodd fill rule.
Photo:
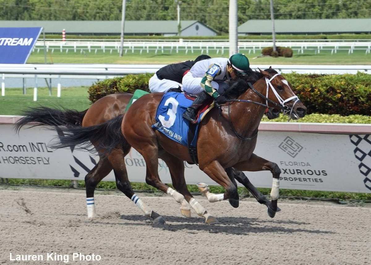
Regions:
<instances>
[{"instance_id":1,"label":"reddish-green hedge stretch right of the bridled horse's head","mask_svg":"<svg viewBox=\"0 0 371 265\"><path fill-rule=\"evenodd\" d=\"M371 75L303 75L285 73L308 113L370 115Z\"/></svg>"}]
</instances>

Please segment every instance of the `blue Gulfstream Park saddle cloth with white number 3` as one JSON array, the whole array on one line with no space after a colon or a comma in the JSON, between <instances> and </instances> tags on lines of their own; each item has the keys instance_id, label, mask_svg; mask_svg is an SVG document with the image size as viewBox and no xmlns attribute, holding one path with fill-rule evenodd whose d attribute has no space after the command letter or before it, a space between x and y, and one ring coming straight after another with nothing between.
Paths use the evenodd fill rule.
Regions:
<instances>
[{"instance_id":1,"label":"blue Gulfstream Park saddle cloth with white number 3","mask_svg":"<svg viewBox=\"0 0 371 265\"><path fill-rule=\"evenodd\" d=\"M188 146L188 130L190 121L182 117L183 112L192 105L193 101L185 98L183 93L168 92L162 96L157 107L156 123L152 128L160 131L171 140ZM190 145L196 147L198 124L202 114L197 120L196 132Z\"/></svg>"}]
</instances>

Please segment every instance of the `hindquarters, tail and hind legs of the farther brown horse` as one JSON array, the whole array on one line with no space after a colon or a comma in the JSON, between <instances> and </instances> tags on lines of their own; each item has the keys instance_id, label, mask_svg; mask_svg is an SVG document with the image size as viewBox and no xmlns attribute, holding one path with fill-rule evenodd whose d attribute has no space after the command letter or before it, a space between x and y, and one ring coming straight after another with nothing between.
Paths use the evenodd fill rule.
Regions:
<instances>
[{"instance_id":1,"label":"hindquarters, tail and hind legs of the farther brown horse","mask_svg":"<svg viewBox=\"0 0 371 265\"><path fill-rule=\"evenodd\" d=\"M90 127L99 125L113 118L119 117L125 112L125 108L129 103L132 94L117 93L104 96L85 111L75 111L70 109L57 109L48 107L30 108L21 113L23 116L16 124L16 131L19 131L24 125L32 123L32 126L51 125L55 126L57 131L60 131L58 126L74 126L74 127ZM99 148L99 143L88 138L94 148ZM130 146L125 145L125 141L117 144L112 151L104 156L99 157L99 161L93 169L85 176L86 203L88 217L95 217L94 191L98 183L114 170L116 186L129 199L144 211L146 216L152 218L154 223L164 223L164 219L156 212L146 206L141 199L134 193L131 184L128 180L127 169L125 166L124 157L130 150ZM105 150L100 148L101 153Z\"/></svg>"}]
</instances>

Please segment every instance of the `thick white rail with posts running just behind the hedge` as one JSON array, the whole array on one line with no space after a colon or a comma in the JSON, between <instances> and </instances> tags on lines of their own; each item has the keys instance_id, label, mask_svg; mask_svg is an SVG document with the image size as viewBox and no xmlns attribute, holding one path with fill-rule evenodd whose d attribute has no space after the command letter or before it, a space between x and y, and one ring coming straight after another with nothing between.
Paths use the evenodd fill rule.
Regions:
<instances>
[{"instance_id":1,"label":"thick white rail with posts running just behind the hedge","mask_svg":"<svg viewBox=\"0 0 371 265\"><path fill-rule=\"evenodd\" d=\"M37 101L37 78L58 78L57 96L60 97L62 77L106 79L128 74L155 73L162 66L164 65L0 64L1 96L5 96L5 78L35 78L33 100ZM252 68L267 69L269 66L281 73L371 73L371 65L253 65Z\"/></svg>"}]
</instances>

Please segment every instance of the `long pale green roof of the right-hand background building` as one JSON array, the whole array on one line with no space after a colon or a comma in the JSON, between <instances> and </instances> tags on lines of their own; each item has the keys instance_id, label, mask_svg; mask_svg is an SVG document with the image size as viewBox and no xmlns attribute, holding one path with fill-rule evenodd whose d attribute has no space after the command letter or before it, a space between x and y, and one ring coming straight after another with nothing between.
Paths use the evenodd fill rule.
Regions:
<instances>
[{"instance_id":1,"label":"long pale green roof of the right-hand background building","mask_svg":"<svg viewBox=\"0 0 371 265\"><path fill-rule=\"evenodd\" d=\"M278 34L371 33L371 19L276 19ZM272 21L248 20L238 27L239 35L272 34Z\"/></svg>"}]
</instances>

